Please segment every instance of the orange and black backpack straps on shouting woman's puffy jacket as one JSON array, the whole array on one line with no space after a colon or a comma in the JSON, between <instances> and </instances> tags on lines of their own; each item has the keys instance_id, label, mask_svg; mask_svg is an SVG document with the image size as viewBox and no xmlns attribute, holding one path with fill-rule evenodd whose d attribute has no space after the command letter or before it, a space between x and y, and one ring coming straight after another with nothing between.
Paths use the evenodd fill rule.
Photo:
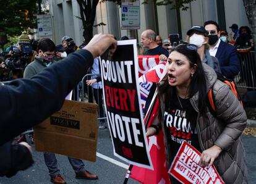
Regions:
<instances>
[{"instance_id":1,"label":"orange and black backpack straps on shouting woman's puffy jacket","mask_svg":"<svg viewBox=\"0 0 256 184\"><path fill-rule=\"evenodd\" d=\"M242 98L239 96L239 93L237 92L237 87L236 87L236 84L234 83L234 81L224 77L220 73L217 73L217 76L218 76L217 77L218 80L220 80L221 82L226 83L227 85L229 85L230 90L232 91L234 96L236 96L236 98L240 102L241 106L243 106ZM208 106L209 106L210 112L212 114L216 114L215 97L213 95L213 89L212 88L208 91L207 95L208 95Z\"/></svg>"}]
</instances>

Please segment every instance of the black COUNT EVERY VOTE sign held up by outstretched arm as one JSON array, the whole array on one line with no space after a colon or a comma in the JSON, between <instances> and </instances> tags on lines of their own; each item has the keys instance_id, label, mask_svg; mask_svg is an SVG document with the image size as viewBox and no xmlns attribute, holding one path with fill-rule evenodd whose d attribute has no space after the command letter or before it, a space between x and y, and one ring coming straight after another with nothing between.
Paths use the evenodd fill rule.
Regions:
<instances>
[{"instance_id":1,"label":"black COUNT EVERY VOTE sign held up by outstretched arm","mask_svg":"<svg viewBox=\"0 0 256 184\"><path fill-rule=\"evenodd\" d=\"M114 56L103 54L100 65L114 155L152 169L140 103L136 40L117 41Z\"/></svg>"}]
</instances>

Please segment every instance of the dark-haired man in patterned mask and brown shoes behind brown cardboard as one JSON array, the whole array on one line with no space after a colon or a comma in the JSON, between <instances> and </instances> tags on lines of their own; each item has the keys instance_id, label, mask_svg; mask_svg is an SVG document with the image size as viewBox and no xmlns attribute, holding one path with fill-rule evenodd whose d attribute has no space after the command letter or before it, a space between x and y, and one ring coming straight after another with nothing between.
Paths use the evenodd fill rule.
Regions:
<instances>
[{"instance_id":1,"label":"dark-haired man in patterned mask and brown shoes behind brown cardboard","mask_svg":"<svg viewBox=\"0 0 256 184\"><path fill-rule=\"evenodd\" d=\"M55 44L49 38L43 38L38 42L38 56L35 57L35 60L30 63L24 72L24 78L32 78L33 75L40 73L42 70L49 67L53 64L54 54L55 54ZM49 176L51 177L52 183L66 183L64 178L60 174L58 169L58 162L54 153L44 153L45 164L49 170ZM91 174L85 170L85 165L80 159L74 159L68 157L69 163L72 165L72 168L75 171L76 178L83 178L89 180L96 180L98 177L94 174Z\"/></svg>"}]
</instances>

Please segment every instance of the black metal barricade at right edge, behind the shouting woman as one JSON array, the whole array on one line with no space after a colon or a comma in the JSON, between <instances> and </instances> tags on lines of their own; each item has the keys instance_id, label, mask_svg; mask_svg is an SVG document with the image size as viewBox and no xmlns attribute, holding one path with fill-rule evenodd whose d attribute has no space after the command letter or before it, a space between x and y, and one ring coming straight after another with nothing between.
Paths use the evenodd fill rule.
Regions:
<instances>
[{"instance_id":1,"label":"black metal barricade at right edge, behind the shouting woman","mask_svg":"<svg viewBox=\"0 0 256 184\"><path fill-rule=\"evenodd\" d=\"M240 72L234 81L237 87L256 89L256 54L255 51L238 53Z\"/></svg>"}]
</instances>

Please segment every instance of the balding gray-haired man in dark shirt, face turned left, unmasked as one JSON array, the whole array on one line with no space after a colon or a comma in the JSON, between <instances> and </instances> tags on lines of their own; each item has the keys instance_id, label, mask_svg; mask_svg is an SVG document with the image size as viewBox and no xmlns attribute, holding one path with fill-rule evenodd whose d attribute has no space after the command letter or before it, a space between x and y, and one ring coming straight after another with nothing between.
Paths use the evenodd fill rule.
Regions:
<instances>
[{"instance_id":1,"label":"balding gray-haired man in dark shirt, face turned left, unmasked","mask_svg":"<svg viewBox=\"0 0 256 184\"><path fill-rule=\"evenodd\" d=\"M156 33L153 30L143 31L140 43L142 43L144 49L148 49L144 55L153 56L164 54L166 57L169 56L169 52L156 43Z\"/></svg>"}]
</instances>

